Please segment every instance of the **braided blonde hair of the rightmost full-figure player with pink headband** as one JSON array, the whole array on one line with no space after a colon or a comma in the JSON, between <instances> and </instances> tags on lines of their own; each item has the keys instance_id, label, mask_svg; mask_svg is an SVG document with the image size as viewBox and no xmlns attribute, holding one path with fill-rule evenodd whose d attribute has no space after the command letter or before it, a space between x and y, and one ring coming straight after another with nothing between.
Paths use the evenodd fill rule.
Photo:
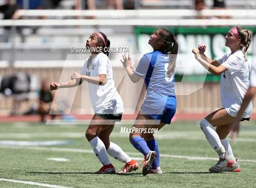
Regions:
<instances>
[{"instance_id":1,"label":"braided blonde hair of the rightmost full-figure player with pink headband","mask_svg":"<svg viewBox=\"0 0 256 188\"><path fill-rule=\"evenodd\" d=\"M247 61L246 52L252 41L252 31L244 29L243 27L236 27L236 29L241 39L241 49L243 49L244 60Z\"/></svg>"}]
</instances>

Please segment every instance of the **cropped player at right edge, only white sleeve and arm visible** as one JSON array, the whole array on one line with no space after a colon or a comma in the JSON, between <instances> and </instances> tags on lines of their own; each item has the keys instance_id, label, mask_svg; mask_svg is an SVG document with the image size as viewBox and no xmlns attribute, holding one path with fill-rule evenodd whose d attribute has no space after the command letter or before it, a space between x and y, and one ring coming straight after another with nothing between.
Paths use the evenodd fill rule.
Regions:
<instances>
[{"instance_id":1,"label":"cropped player at right edge, only white sleeve and arm visible","mask_svg":"<svg viewBox=\"0 0 256 188\"><path fill-rule=\"evenodd\" d=\"M246 110L249 103L252 101L256 94L256 62L252 62L251 66L251 73L250 73L250 87L244 95L243 103L241 104L241 108L236 115L235 121L232 123L231 129L232 130L239 130L240 126L240 119Z\"/></svg>"}]
</instances>

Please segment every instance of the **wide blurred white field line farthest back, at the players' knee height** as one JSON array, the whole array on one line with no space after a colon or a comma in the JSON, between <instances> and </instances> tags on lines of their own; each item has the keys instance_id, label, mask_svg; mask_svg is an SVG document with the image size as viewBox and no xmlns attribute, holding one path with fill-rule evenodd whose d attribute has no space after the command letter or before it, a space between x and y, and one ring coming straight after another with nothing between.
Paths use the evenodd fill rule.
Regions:
<instances>
[{"instance_id":1,"label":"wide blurred white field line farthest back, at the players' knee height","mask_svg":"<svg viewBox=\"0 0 256 188\"><path fill-rule=\"evenodd\" d=\"M85 133L80 132L60 132L60 133L0 133L0 138L84 138ZM129 134L120 132L112 132L112 138L124 138ZM205 136L201 132L162 132L155 133L157 139L185 139L185 140L205 140ZM244 136L255 136L255 132L245 133ZM238 143L256 143L255 138L241 138L236 139Z\"/></svg>"}]
</instances>

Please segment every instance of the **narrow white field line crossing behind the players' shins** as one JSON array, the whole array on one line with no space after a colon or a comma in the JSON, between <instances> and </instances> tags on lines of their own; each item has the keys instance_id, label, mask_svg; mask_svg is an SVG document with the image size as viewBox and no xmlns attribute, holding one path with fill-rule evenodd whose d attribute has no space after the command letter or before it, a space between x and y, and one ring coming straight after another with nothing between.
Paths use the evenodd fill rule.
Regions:
<instances>
[{"instance_id":1,"label":"narrow white field line crossing behind the players' shins","mask_svg":"<svg viewBox=\"0 0 256 188\"><path fill-rule=\"evenodd\" d=\"M23 146L2 146L0 148L5 149L29 149L29 150L43 150L43 151L53 151L53 152L75 152L75 153L93 153L93 150L87 149L73 149L73 148L62 148L62 147L23 147ZM141 153L134 153L134 152L127 152L130 156L141 156ZM189 160L218 160L218 158L211 158L211 157L202 157L202 156L185 156L185 155L168 155L162 154L162 157L166 158L181 158L181 159L189 159ZM254 159L240 159L239 161L243 162L252 162L256 163Z\"/></svg>"}]
</instances>

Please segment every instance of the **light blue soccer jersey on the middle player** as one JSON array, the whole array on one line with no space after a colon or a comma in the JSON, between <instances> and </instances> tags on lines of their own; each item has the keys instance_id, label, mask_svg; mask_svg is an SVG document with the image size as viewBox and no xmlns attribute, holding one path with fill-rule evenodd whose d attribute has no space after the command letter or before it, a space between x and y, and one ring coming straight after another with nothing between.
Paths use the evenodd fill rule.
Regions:
<instances>
[{"instance_id":1,"label":"light blue soccer jersey on the middle player","mask_svg":"<svg viewBox=\"0 0 256 188\"><path fill-rule=\"evenodd\" d=\"M146 53L135 74L144 77L146 99L141 110L149 115L162 115L165 108L176 110L174 75L166 76L169 56L160 51Z\"/></svg>"}]
</instances>

